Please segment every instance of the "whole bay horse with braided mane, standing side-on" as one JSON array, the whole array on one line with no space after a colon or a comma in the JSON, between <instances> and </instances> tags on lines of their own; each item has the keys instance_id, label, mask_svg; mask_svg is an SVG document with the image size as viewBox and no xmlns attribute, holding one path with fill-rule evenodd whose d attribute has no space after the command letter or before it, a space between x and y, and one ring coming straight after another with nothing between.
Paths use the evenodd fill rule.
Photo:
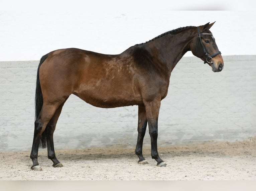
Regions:
<instances>
[{"instance_id":1,"label":"whole bay horse with braided mane, standing side-on","mask_svg":"<svg viewBox=\"0 0 256 191\"><path fill-rule=\"evenodd\" d=\"M31 169L42 170L37 161L39 146L47 146L53 167L63 166L55 156L53 132L61 109L71 94L102 108L138 105L135 149L138 163L147 164L142 155L142 144L148 124L151 156L157 161L157 166L166 166L157 152L161 100L167 95L173 68L187 51L208 63L213 72L222 71L221 52L209 30L214 23L181 27L134 45L118 55L76 48L44 55L37 70Z\"/></svg>"}]
</instances>

